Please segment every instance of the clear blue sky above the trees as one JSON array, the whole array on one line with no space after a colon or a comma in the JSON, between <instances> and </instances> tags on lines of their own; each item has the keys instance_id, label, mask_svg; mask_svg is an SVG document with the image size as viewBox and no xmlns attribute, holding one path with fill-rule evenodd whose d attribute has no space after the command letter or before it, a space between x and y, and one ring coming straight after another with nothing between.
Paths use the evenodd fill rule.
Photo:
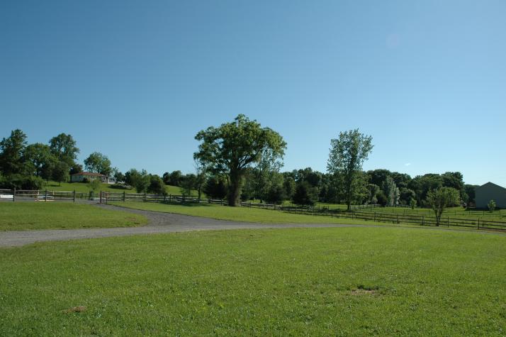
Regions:
<instances>
[{"instance_id":1,"label":"clear blue sky above the trees","mask_svg":"<svg viewBox=\"0 0 506 337\"><path fill-rule=\"evenodd\" d=\"M324 171L506 186L506 1L1 1L0 137L71 133L125 171L193 170L195 134L246 114Z\"/></svg>"}]
</instances>

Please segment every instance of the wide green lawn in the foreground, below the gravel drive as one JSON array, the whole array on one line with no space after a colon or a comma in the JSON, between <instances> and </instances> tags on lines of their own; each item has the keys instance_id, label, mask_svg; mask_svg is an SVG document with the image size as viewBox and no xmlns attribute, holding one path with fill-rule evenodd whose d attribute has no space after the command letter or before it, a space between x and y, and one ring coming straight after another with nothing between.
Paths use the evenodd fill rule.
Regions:
<instances>
[{"instance_id":1,"label":"wide green lawn in the foreground, below the gravel drive","mask_svg":"<svg viewBox=\"0 0 506 337\"><path fill-rule=\"evenodd\" d=\"M502 336L506 236L204 231L0 249L1 336Z\"/></svg>"}]
</instances>

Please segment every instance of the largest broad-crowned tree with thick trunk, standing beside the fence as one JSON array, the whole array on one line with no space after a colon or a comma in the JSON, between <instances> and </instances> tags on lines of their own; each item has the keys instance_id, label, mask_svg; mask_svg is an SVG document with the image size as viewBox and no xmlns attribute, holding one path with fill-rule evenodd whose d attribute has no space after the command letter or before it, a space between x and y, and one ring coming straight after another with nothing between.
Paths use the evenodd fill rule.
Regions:
<instances>
[{"instance_id":1,"label":"largest broad-crowned tree with thick trunk, standing beside the fence","mask_svg":"<svg viewBox=\"0 0 506 337\"><path fill-rule=\"evenodd\" d=\"M230 206L237 204L247 168L257 165L266 151L276 158L282 158L286 149L286 142L279 133L271 128L262 128L260 123L250 121L243 114L218 128L210 126L200 131L195 139L201 144L194 158L215 172L227 175Z\"/></svg>"}]
</instances>

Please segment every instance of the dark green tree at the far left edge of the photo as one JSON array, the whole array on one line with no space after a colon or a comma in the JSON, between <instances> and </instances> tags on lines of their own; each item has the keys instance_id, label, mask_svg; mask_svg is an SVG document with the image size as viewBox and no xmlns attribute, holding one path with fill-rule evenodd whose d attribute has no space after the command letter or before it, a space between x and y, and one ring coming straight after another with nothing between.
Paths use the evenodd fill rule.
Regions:
<instances>
[{"instance_id":1,"label":"dark green tree at the far left edge of the photo","mask_svg":"<svg viewBox=\"0 0 506 337\"><path fill-rule=\"evenodd\" d=\"M0 170L4 175L23 174L23 152L26 148L26 134L20 129L11 131L9 138L0 141Z\"/></svg>"}]
</instances>

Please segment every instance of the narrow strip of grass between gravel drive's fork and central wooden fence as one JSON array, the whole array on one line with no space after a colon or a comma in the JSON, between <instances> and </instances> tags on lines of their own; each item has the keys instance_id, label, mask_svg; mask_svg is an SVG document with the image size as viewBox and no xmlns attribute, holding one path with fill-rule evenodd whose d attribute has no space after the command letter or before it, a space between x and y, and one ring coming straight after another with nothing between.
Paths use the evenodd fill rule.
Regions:
<instances>
[{"instance_id":1,"label":"narrow strip of grass between gravel drive's fork and central wooden fence","mask_svg":"<svg viewBox=\"0 0 506 337\"><path fill-rule=\"evenodd\" d=\"M142 209L145 211L160 211L166 213L202 216L218 220L244 221L257 223L371 223L373 221L338 219L330 216L309 216L305 214L290 214L272 209L255 209L249 207L230 207L217 204L161 204L155 202L113 201L109 204Z\"/></svg>"}]
</instances>

